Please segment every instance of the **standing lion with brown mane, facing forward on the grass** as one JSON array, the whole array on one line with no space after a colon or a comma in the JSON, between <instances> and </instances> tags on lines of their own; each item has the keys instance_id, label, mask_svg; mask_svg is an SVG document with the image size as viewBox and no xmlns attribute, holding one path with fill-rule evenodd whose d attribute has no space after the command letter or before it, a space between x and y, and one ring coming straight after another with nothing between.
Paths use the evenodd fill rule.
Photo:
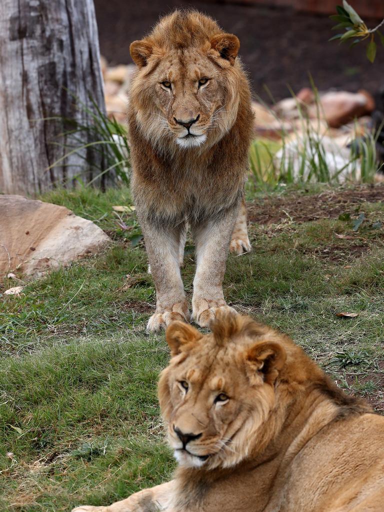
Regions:
<instances>
[{"instance_id":1,"label":"standing lion with brown mane, facing forward on the grass","mask_svg":"<svg viewBox=\"0 0 384 512\"><path fill-rule=\"evenodd\" d=\"M197 11L175 11L131 44L132 190L156 286L147 328L189 321L180 275L187 225L197 251L192 314L225 306L228 247L250 250L244 181L253 114L239 39Z\"/></svg>"}]
</instances>

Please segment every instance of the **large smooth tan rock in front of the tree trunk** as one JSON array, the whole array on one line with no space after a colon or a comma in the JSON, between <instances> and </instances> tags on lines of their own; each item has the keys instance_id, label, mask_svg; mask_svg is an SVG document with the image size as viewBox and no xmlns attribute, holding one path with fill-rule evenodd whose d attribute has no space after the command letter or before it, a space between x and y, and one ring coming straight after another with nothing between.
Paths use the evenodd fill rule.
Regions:
<instances>
[{"instance_id":1,"label":"large smooth tan rock in front of the tree trunk","mask_svg":"<svg viewBox=\"0 0 384 512\"><path fill-rule=\"evenodd\" d=\"M110 241L96 224L64 206L0 195L0 279L16 270L39 277Z\"/></svg>"}]
</instances>

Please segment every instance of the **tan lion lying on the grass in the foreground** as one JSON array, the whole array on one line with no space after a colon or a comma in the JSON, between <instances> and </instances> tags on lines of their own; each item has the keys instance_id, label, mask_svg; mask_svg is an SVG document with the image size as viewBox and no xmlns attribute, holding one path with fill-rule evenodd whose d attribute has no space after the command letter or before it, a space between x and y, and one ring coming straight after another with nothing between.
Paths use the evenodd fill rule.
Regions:
<instances>
[{"instance_id":1,"label":"tan lion lying on the grass in the foreground","mask_svg":"<svg viewBox=\"0 0 384 512\"><path fill-rule=\"evenodd\" d=\"M384 418L285 335L231 311L170 325L159 401L175 479L73 512L382 512Z\"/></svg>"}]
</instances>

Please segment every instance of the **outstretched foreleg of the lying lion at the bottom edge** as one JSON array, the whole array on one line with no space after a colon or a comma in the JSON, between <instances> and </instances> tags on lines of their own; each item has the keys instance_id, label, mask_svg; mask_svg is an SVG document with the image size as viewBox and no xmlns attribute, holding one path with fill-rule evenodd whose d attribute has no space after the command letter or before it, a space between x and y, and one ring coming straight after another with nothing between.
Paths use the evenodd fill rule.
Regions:
<instances>
[{"instance_id":1,"label":"outstretched foreleg of the lying lion at the bottom edge","mask_svg":"<svg viewBox=\"0 0 384 512\"><path fill-rule=\"evenodd\" d=\"M72 512L173 512L175 481L140 490L125 500L106 507L81 505Z\"/></svg>"}]
</instances>

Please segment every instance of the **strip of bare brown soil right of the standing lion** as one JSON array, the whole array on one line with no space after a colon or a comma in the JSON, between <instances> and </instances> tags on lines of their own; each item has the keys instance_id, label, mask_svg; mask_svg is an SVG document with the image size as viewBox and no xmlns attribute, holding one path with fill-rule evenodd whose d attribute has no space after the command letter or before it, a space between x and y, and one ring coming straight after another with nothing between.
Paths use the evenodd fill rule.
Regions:
<instances>
[{"instance_id":1,"label":"strip of bare brown soil right of the standing lion","mask_svg":"<svg viewBox=\"0 0 384 512\"><path fill-rule=\"evenodd\" d=\"M360 185L353 189L327 190L321 194L296 192L281 197L266 197L247 204L248 219L258 224L283 221L310 222L337 219L340 214L353 214L359 204L384 201L384 185Z\"/></svg>"}]
</instances>

